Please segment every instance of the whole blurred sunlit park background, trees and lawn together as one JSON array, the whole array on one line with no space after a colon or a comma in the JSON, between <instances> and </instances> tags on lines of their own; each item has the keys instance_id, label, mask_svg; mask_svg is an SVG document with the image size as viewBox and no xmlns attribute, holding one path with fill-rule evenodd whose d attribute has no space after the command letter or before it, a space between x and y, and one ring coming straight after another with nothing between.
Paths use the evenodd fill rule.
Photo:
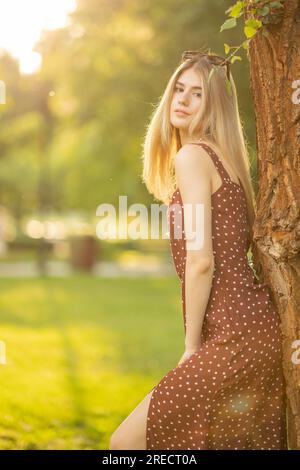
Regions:
<instances>
[{"instance_id":1,"label":"whole blurred sunlit park background, trees and lawn together","mask_svg":"<svg viewBox=\"0 0 300 470\"><path fill-rule=\"evenodd\" d=\"M153 106L183 50L241 42L239 27L220 32L232 3L1 1L0 449L107 449L181 357L169 241L100 239L96 209L157 202L141 180Z\"/></svg>"}]
</instances>

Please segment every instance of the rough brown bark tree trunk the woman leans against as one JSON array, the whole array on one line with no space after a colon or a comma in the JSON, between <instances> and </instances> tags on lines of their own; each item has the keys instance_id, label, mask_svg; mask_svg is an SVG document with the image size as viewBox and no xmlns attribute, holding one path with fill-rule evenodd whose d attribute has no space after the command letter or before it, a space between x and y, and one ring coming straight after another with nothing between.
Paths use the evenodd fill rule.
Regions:
<instances>
[{"instance_id":1,"label":"rough brown bark tree trunk the woman leans against","mask_svg":"<svg viewBox=\"0 0 300 470\"><path fill-rule=\"evenodd\" d=\"M259 177L254 260L281 316L288 442L300 449L300 0L282 3L264 25L269 36L259 31L249 48Z\"/></svg>"}]
</instances>

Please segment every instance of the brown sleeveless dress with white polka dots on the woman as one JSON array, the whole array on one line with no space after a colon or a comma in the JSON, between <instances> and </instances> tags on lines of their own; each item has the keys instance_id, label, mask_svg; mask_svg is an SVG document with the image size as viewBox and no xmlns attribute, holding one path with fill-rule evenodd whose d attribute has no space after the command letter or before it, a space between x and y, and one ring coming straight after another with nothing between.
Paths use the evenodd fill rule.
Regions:
<instances>
[{"instance_id":1,"label":"brown sleeveless dress with white polka dots on the woman","mask_svg":"<svg viewBox=\"0 0 300 470\"><path fill-rule=\"evenodd\" d=\"M247 260L246 199L216 153L202 145L222 178L211 196L215 259L201 348L152 388L147 450L287 449L280 318L268 286ZM182 237L174 237L175 210ZM178 219L177 219L178 220ZM184 332L184 213L179 189L168 207L170 246L181 281Z\"/></svg>"}]
</instances>

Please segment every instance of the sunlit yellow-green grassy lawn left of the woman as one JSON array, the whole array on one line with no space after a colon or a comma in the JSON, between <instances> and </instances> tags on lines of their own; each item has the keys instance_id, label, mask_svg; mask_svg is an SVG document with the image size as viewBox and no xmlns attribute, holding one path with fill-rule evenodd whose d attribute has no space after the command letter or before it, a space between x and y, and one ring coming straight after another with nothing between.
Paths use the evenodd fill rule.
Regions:
<instances>
[{"instance_id":1,"label":"sunlit yellow-green grassy lawn left of the woman","mask_svg":"<svg viewBox=\"0 0 300 470\"><path fill-rule=\"evenodd\" d=\"M0 449L108 449L183 353L178 279L1 279Z\"/></svg>"}]
</instances>

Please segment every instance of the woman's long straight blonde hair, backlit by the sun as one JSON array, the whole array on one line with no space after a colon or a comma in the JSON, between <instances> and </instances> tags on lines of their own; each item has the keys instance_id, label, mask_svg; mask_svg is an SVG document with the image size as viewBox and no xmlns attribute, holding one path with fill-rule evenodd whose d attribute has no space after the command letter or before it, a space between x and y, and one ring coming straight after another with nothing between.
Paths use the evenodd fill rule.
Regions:
<instances>
[{"instance_id":1,"label":"woman's long straight blonde hair, backlit by the sun","mask_svg":"<svg viewBox=\"0 0 300 470\"><path fill-rule=\"evenodd\" d=\"M236 87L230 74L231 94L226 87L226 70L212 65L206 56L181 63L171 76L147 126L143 142L142 180L154 197L169 204L176 189L174 155L181 147L180 134L170 121L170 107L176 81L184 70L193 67L202 79L202 99L199 110L189 124L190 135L220 149L222 160L238 176L246 195L249 227L248 246L256 213L250 161L238 109ZM209 73L215 68L209 78Z\"/></svg>"}]
</instances>

